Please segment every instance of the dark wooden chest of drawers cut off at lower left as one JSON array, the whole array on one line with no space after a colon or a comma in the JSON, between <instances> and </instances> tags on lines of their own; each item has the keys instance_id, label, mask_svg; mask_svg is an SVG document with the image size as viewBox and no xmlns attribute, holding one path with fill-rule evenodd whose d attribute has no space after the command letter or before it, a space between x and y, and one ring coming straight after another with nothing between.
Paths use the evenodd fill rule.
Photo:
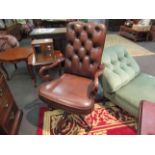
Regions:
<instances>
[{"instance_id":1,"label":"dark wooden chest of drawers cut off at lower left","mask_svg":"<svg viewBox=\"0 0 155 155\"><path fill-rule=\"evenodd\" d=\"M0 71L0 135L17 134L22 115Z\"/></svg>"}]
</instances>

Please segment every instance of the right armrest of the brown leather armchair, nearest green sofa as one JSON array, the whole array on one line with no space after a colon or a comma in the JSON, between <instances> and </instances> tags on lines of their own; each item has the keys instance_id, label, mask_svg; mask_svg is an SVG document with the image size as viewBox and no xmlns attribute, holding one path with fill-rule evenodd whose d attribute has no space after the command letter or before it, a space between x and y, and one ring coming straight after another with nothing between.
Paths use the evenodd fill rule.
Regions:
<instances>
[{"instance_id":1,"label":"right armrest of the brown leather armchair, nearest green sofa","mask_svg":"<svg viewBox=\"0 0 155 155\"><path fill-rule=\"evenodd\" d=\"M91 95L92 96L96 96L96 93L97 93L98 87L99 87L99 76L102 75L103 70L104 70L104 65L101 64L95 73L94 80L91 85Z\"/></svg>"}]
</instances>

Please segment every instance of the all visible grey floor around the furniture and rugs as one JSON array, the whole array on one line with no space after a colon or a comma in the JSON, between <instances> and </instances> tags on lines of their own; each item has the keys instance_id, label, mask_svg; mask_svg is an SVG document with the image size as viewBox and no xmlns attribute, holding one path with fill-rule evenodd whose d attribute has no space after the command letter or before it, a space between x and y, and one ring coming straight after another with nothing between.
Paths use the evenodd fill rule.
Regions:
<instances>
[{"instance_id":1,"label":"all visible grey floor around the furniture and rugs","mask_svg":"<svg viewBox=\"0 0 155 155\"><path fill-rule=\"evenodd\" d=\"M139 42L138 44L155 52L155 42ZM21 46L30 46L30 40L22 40ZM143 72L155 76L155 56L135 57L135 59ZM34 135L36 134L37 129L39 108L46 106L46 104L38 98L37 88L34 88L33 86L26 65L23 62L20 62L17 65L18 70L14 74L13 65L8 64L6 67L9 75L11 76L13 74L11 80L8 81L9 87L18 106L24 112L19 134ZM42 83L42 81L38 77L38 85L40 83Z\"/></svg>"}]
</instances>

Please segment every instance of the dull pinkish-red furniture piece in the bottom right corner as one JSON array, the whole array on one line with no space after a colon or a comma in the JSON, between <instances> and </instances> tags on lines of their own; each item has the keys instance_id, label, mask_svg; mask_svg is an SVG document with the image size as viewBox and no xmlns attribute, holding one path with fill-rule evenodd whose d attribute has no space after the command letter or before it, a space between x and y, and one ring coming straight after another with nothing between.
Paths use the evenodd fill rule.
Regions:
<instances>
[{"instance_id":1,"label":"dull pinkish-red furniture piece in the bottom right corner","mask_svg":"<svg viewBox=\"0 0 155 155\"><path fill-rule=\"evenodd\" d=\"M155 103L141 101L138 133L141 135L155 135Z\"/></svg>"}]
</instances>

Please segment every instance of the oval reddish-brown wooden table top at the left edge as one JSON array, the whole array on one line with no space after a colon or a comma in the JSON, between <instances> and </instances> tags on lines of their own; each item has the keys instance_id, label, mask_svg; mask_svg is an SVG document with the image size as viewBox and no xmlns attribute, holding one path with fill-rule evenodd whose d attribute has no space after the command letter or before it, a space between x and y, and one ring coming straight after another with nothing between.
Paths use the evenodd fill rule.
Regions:
<instances>
[{"instance_id":1,"label":"oval reddish-brown wooden table top at the left edge","mask_svg":"<svg viewBox=\"0 0 155 155\"><path fill-rule=\"evenodd\" d=\"M4 52L0 52L0 61L25 60L33 53L32 48L15 47Z\"/></svg>"}]
</instances>

